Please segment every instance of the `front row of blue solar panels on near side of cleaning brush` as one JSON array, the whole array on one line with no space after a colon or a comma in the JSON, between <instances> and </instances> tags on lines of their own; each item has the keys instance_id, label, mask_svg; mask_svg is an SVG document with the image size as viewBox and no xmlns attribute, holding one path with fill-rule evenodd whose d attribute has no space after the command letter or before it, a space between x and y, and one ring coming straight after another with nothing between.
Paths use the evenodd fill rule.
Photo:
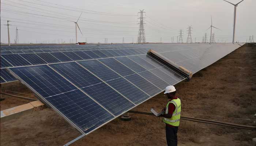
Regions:
<instances>
[{"instance_id":1,"label":"front row of blue solar panels on near side of cleaning brush","mask_svg":"<svg viewBox=\"0 0 256 146\"><path fill-rule=\"evenodd\" d=\"M147 55L9 69L86 134L184 80Z\"/></svg>"}]
</instances>

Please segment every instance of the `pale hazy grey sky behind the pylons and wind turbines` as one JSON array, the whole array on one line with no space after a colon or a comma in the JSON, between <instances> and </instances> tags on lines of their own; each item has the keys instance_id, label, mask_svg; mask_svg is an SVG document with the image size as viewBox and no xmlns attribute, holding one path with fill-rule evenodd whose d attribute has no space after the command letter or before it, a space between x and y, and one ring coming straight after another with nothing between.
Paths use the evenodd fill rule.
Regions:
<instances>
[{"instance_id":1,"label":"pale hazy grey sky behind the pylons and wind turbines","mask_svg":"<svg viewBox=\"0 0 256 146\"><path fill-rule=\"evenodd\" d=\"M240 0L229 0L238 3ZM8 42L7 20L11 20L11 42L18 28L19 43L75 42L75 23L78 21L78 41L89 43L136 42L139 9L144 9L147 42L177 41L182 29L183 42L187 27L192 25L193 42L202 42L207 33L210 39L211 15L215 41L231 42L234 6L223 0L1 0L1 42ZM237 7L235 41L246 42L256 36L256 0L244 0ZM206 31L207 30L207 31ZM256 39L256 38L255 38Z\"/></svg>"}]
</instances>

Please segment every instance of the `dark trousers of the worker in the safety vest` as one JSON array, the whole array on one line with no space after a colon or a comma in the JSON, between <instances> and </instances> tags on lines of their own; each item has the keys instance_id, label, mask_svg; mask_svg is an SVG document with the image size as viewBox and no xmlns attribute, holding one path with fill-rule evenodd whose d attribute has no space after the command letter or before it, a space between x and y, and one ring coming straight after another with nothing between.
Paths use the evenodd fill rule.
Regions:
<instances>
[{"instance_id":1,"label":"dark trousers of the worker in the safety vest","mask_svg":"<svg viewBox=\"0 0 256 146\"><path fill-rule=\"evenodd\" d=\"M169 127L165 126L166 131L166 141L168 146L177 146L178 139L177 139L177 132L178 127Z\"/></svg>"}]
</instances>

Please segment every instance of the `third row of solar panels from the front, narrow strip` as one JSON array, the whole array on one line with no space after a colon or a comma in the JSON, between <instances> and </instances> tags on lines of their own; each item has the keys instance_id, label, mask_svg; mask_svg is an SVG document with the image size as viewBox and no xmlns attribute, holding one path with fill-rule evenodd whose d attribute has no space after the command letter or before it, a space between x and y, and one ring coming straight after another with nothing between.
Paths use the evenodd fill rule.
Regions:
<instances>
[{"instance_id":1,"label":"third row of solar panels from the front, narrow strip","mask_svg":"<svg viewBox=\"0 0 256 146\"><path fill-rule=\"evenodd\" d=\"M17 54L17 53L40 53L40 52L63 52L63 51L86 51L86 50L108 50L108 49L138 49L145 48L144 46L139 47L88 47L88 48L61 48L61 49L17 49L17 50L1 50L0 54Z\"/></svg>"}]
</instances>

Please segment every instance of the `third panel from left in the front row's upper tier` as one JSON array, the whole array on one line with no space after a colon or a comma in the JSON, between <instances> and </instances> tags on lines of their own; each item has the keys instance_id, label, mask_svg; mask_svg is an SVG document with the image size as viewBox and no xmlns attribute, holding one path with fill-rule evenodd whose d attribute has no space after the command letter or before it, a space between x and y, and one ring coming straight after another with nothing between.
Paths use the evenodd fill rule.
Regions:
<instances>
[{"instance_id":1,"label":"third panel from left in the front row's upper tier","mask_svg":"<svg viewBox=\"0 0 256 146\"><path fill-rule=\"evenodd\" d=\"M86 69L90 70L90 72L94 73L103 81L108 81L120 77L117 73L113 72L113 70L107 68L97 60L78 61L78 63L83 65Z\"/></svg>"}]
</instances>

